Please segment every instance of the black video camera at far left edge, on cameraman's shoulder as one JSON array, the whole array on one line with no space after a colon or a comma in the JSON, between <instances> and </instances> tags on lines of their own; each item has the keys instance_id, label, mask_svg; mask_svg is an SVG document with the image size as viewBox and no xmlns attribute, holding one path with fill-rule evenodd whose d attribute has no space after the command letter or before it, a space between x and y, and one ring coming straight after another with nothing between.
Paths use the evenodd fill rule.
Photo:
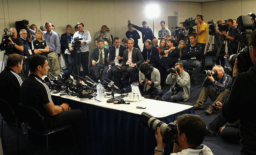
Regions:
<instances>
[{"instance_id":1,"label":"black video camera at far left edge, on cameraman's shoulder","mask_svg":"<svg viewBox=\"0 0 256 155\"><path fill-rule=\"evenodd\" d=\"M9 35L7 35L7 31L10 32ZM7 29L7 28L4 29L4 34L2 36L0 49L1 49L1 51L5 50L5 52L8 52L8 55L10 54L9 52L12 51L12 49L13 49L13 45L9 44L10 43L9 37L13 37L13 35L14 35L14 33L11 32L10 29Z\"/></svg>"}]
</instances>

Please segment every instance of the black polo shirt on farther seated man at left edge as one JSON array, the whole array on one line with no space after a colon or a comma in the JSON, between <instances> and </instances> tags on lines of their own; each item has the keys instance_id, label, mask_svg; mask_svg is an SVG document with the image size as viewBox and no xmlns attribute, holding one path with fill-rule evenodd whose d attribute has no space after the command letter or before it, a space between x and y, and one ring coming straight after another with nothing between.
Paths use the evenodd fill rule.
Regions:
<instances>
[{"instance_id":1,"label":"black polo shirt on farther seated man at left edge","mask_svg":"<svg viewBox=\"0 0 256 155\"><path fill-rule=\"evenodd\" d=\"M18 105L20 103L21 84L21 77L13 69L5 67L0 73L0 88L2 89L0 98L6 100L13 107L13 110L17 116L22 114L22 111L20 111L20 107Z\"/></svg>"}]
</instances>

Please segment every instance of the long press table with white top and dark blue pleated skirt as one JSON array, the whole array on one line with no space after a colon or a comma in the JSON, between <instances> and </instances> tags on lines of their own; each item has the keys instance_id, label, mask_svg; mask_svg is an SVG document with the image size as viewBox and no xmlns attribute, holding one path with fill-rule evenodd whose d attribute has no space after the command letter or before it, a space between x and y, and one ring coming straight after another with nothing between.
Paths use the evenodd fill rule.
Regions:
<instances>
[{"instance_id":1,"label":"long press table with white top and dark blue pleated skirt","mask_svg":"<svg viewBox=\"0 0 256 155\"><path fill-rule=\"evenodd\" d=\"M71 109L82 109L85 118L85 139L88 154L154 154L156 147L155 131L140 125L142 112L157 119L171 123L182 114L194 114L193 106L170 103L152 99L143 99L130 104L107 103L99 101L80 101L78 97L52 94L55 105L68 103ZM129 102L129 101L127 101ZM136 106L145 106L138 109ZM165 154L172 152L172 146L165 148Z\"/></svg>"}]
</instances>

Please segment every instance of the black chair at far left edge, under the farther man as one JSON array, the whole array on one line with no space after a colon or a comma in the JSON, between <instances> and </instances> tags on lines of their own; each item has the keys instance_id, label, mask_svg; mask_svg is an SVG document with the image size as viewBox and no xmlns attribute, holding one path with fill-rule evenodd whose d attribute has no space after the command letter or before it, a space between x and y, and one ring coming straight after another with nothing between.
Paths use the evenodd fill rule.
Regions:
<instances>
[{"instance_id":1,"label":"black chair at far left edge, under the farther man","mask_svg":"<svg viewBox=\"0 0 256 155\"><path fill-rule=\"evenodd\" d=\"M3 148L4 148L4 137L3 137L3 120L4 120L9 125L14 125L14 124L16 125L16 141L17 141L17 150L19 153L20 149L19 149L19 140L18 140L18 125L26 121L17 120L13 107L10 106L10 104L6 100L0 99L0 105L1 105L0 113L2 116L1 138L2 138Z\"/></svg>"}]
</instances>

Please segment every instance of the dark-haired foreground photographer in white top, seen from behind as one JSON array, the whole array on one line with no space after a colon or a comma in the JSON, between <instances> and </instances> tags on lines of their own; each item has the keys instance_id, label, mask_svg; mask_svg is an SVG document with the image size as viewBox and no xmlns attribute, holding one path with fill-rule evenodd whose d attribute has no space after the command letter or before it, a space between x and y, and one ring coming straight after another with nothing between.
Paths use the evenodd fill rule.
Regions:
<instances>
[{"instance_id":1,"label":"dark-haired foreground photographer in white top, seen from behind","mask_svg":"<svg viewBox=\"0 0 256 155\"><path fill-rule=\"evenodd\" d=\"M177 120L174 121L174 123L178 126L178 134L177 141L174 143L173 153L171 155L213 155L211 149L202 144L205 137L205 122L199 115L184 114L177 117ZM163 143L163 137L160 133L159 127L157 127L155 137L157 141L155 155L162 155L164 153L163 150L165 143Z\"/></svg>"}]
</instances>

